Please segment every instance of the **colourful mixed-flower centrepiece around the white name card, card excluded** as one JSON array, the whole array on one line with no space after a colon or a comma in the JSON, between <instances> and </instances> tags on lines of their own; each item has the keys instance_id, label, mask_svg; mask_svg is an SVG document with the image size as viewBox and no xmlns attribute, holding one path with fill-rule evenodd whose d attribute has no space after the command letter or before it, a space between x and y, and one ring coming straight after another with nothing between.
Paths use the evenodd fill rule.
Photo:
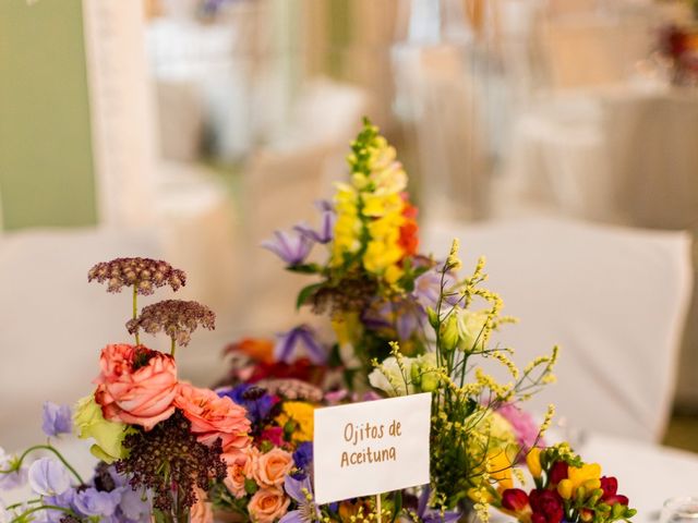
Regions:
<instances>
[{"instance_id":1,"label":"colourful mixed-flower centrepiece around the white name card, card excluded","mask_svg":"<svg viewBox=\"0 0 698 523\"><path fill-rule=\"evenodd\" d=\"M598 464L567 443L545 445L552 405L541 424L520 409L554 381L557 349L519 369L491 340L513 320L482 287L484 259L462 277L458 242L443 262L418 253L406 173L368 121L349 166L350 182L318 205L320 229L301 223L266 243L289 270L316 278L297 303L328 314L333 346L308 326L276 342L243 339L226 350L225 384L194 387L178 378L176 353L215 327L214 313L179 300L137 306L140 295L180 289L184 272L144 258L97 264L89 281L131 289L134 342L101 350L95 388L74 409L45 405L46 443L1 453L0 488L28 483L33 492L0 506L1 521L436 523L474 512L484 522L492 508L524 523L605 523L635 514ZM315 243L327 247L323 264L308 262ZM143 332L165 333L169 353L145 346ZM315 503L314 410L418 392L432 394L430 484L380 503ZM93 441L89 478L53 445L67 433Z\"/></svg>"}]
</instances>

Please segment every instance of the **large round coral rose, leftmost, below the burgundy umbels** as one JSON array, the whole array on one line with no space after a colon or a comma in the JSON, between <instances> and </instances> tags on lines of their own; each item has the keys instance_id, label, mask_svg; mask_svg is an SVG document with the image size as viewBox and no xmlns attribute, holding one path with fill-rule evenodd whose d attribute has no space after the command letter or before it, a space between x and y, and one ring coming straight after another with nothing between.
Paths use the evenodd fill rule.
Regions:
<instances>
[{"instance_id":1,"label":"large round coral rose, leftmost, below the burgundy umbels","mask_svg":"<svg viewBox=\"0 0 698 523\"><path fill-rule=\"evenodd\" d=\"M107 345L99 366L95 401L105 418L149 430L174 412L178 387L172 356L144 345Z\"/></svg>"}]
</instances>

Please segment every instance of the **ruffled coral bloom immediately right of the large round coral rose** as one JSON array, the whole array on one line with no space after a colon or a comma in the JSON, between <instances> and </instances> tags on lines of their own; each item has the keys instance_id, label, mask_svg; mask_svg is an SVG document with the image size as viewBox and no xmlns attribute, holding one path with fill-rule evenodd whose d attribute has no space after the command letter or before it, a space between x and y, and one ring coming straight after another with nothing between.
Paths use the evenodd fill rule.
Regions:
<instances>
[{"instance_id":1,"label":"ruffled coral bloom immediately right of the large round coral rose","mask_svg":"<svg viewBox=\"0 0 698 523\"><path fill-rule=\"evenodd\" d=\"M250 419L246 411L230 398L220 398L213 390L180 384L174 405L192 423L192 433L204 445L221 439L222 451L242 450L250 445Z\"/></svg>"}]
</instances>

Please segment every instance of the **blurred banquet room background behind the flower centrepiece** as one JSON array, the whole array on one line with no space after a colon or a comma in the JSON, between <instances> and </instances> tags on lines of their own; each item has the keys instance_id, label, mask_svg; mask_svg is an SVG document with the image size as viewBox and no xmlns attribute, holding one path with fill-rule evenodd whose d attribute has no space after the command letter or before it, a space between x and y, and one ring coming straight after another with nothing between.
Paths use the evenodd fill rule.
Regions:
<instances>
[{"instance_id":1,"label":"blurred banquet room background behind the flower centrepiece","mask_svg":"<svg viewBox=\"0 0 698 523\"><path fill-rule=\"evenodd\" d=\"M202 384L226 343L298 323L303 281L258 244L313 218L368 115L424 247L493 253L513 344L561 342L607 410L564 376L544 402L698 451L696 16L685 0L2 0L0 440L86 393L127 338L130 296L86 284L97 262L188 272L179 294L218 316L181 354Z\"/></svg>"}]
</instances>

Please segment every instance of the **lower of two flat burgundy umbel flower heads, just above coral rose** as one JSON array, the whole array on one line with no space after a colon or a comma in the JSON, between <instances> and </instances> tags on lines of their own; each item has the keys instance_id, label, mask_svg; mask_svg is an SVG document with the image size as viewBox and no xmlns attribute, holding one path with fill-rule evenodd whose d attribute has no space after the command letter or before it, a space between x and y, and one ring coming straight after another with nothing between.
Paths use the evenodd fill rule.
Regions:
<instances>
[{"instance_id":1,"label":"lower of two flat burgundy umbel flower heads, just above coral rose","mask_svg":"<svg viewBox=\"0 0 698 523\"><path fill-rule=\"evenodd\" d=\"M127 321L127 329L135 333L143 329L148 335L164 331L178 345L189 344L191 335L201 326L204 329L216 328L216 314L198 302L165 300L143 307L141 315Z\"/></svg>"}]
</instances>

